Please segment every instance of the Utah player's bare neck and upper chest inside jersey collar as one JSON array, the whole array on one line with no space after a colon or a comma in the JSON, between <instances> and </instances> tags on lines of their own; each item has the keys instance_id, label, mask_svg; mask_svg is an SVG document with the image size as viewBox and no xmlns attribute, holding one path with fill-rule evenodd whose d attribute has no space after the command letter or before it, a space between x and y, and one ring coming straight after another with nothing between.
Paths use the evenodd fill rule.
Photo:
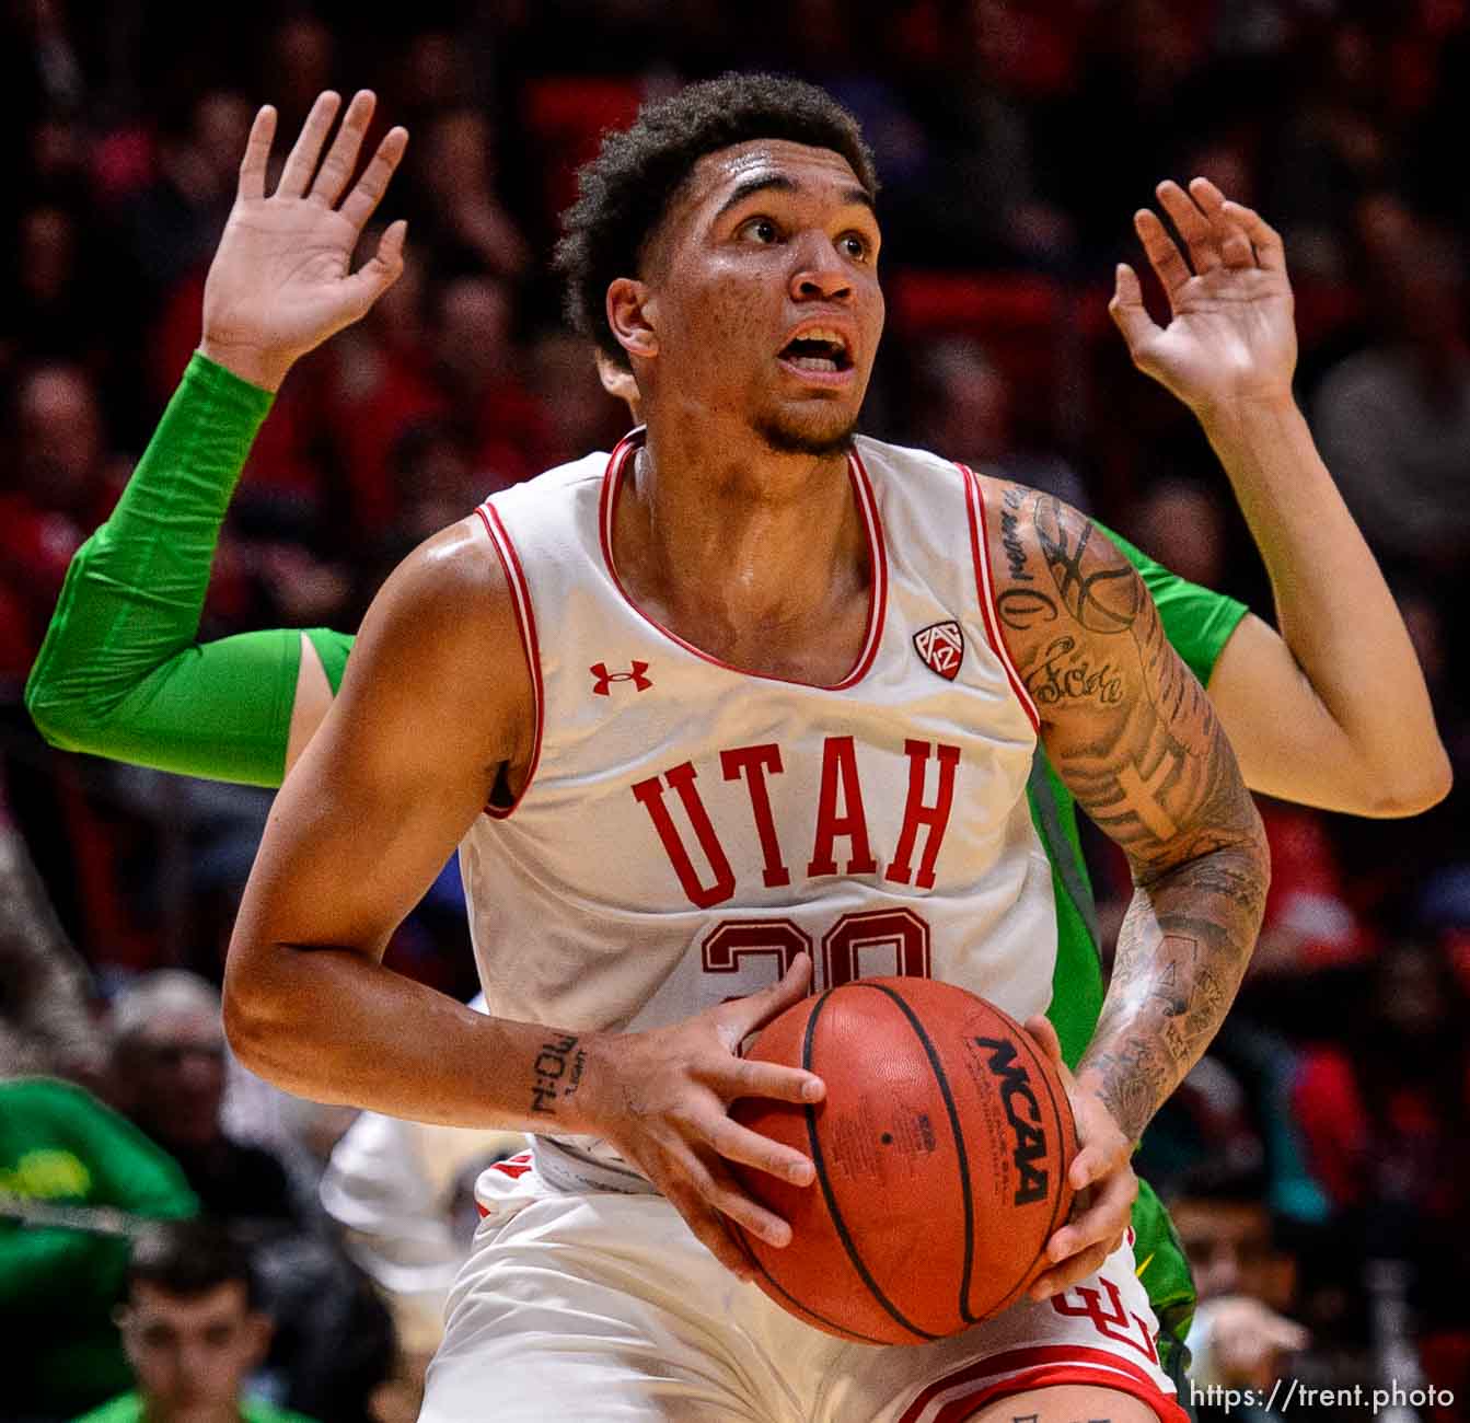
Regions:
<instances>
[{"instance_id":1,"label":"Utah player's bare neck and upper chest inside jersey collar","mask_svg":"<svg viewBox=\"0 0 1470 1423\"><path fill-rule=\"evenodd\" d=\"M698 645L720 639L726 650L800 637L870 579L842 451L788 456L753 440L650 431L623 482L614 541L639 601Z\"/></svg>"}]
</instances>

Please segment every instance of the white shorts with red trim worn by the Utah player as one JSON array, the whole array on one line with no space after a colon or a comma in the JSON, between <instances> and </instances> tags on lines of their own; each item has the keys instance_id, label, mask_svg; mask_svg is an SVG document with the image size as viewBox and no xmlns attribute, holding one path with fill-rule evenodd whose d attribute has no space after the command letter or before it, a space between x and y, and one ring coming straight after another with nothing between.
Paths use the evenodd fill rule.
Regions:
<instances>
[{"instance_id":1,"label":"white shorts with red trim worn by the Utah player","mask_svg":"<svg viewBox=\"0 0 1470 1423\"><path fill-rule=\"evenodd\" d=\"M567 1158L544 1144L537 1163L512 1157L479 1180L485 1219L420 1423L960 1423L1051 1383L1120 1389L1164 1423L1188 1420L1130 1241L1047 1304L936 1344L848 1344L738 1280L662 1195L567 1189Z\"/></svg>"}]
</instances>

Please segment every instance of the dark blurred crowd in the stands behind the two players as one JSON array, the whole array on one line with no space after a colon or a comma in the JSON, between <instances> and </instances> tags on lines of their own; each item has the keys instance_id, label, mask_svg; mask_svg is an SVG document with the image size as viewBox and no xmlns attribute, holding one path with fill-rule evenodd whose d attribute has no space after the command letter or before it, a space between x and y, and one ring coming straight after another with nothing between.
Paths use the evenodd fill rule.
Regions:
<instances>
[{"instance_id":1,"label":"dark blurred crowd in the stands behind the two players","mask_svg":"<svg viewBox=\"0 0 1470 1423\"><path fill-rule=\"evenodd\" d=\"M97 1208L134 1208L153 1182L159 1214L203 1208L253 1244L248 1298L228 1261L207 1289L237 1280L241 1320L265 1301L275 1333L251 1336L237 1372L313 1417L412 1416L453 1232L469 1229L466 1173L507 1144L348 1126L237 1069L215 985L268 797L53 753L21 688L72 553L197 341L259 103L293 134L319 90L378 90L379 132L412 132L384 207L410 221L409 265L276 400L206 638L351 631L426 534L616 441L626 412L560 322L557 213L606 126L728 68L823 84L876 151L889 316L864 428L1053 490L1269 617L1198 428L1133 372L1105 315L1113 265L1141 265L1130 218L1155 181L1205 175L1258 206L1286 240L1298 398L1470 775L1454 612L1470 591L1466 0L425 0L370 24L340 0L9 0L0 1145L16 1082L74 1083L81 1098L24 1111L96 1111L103 1155L150 1163L116 1180L98 1166ZM1396 1369L1470 1398L1466 807L1452 792L1388 823L1261 806L1274 879L1254 967L1139 1161L1177 1202L1211 1379ZM1120 903L1119 863L1091 850L1100 897ZM469 997L460 906L450 867L388 961ZM422 1230L385 1239L404 1192ZM51 1347L49 1307L4 1282L15 1229L0 1220L0 1314L24 1308ZM78 1379L87 1358L106 1382L37 1417L125 1388L123 1342L134 1369L140 1355L110 1310L172 1288L163 1266L126 1275L115 1236L88 1239L87 1260L46 1264L53 1283L78 1272L91 1307L57 1367Z\"/></svg>"}]
</instances>

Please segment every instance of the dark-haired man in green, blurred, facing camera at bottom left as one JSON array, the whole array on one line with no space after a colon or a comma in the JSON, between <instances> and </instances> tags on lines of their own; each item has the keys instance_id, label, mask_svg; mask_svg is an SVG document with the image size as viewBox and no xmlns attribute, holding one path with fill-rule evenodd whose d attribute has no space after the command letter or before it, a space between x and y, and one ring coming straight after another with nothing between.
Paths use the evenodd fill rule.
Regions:
<instances>
[{"instance_id":1,"label":"dark-haired man in green, blurred, facing camera at bottom left","mask_svg":"<svg viewBox=\"0 0 1470 1423\"><path fill-rule=\"evenodd\" d=\"M140 1236L118 1323L135 1388L79 1423L310 1423L245 1397L272 1325L248 1255L218 1226Z\"/></svg>"}]
</instances>

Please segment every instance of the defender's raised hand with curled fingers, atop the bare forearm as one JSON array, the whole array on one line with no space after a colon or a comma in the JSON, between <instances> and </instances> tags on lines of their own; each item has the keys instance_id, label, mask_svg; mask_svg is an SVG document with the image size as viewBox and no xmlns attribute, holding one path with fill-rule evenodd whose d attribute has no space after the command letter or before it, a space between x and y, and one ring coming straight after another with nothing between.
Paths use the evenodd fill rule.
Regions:
<instances>
[{"instance_id":1,"label":"defender's raised hand with curled fingers, atop the bare forearm","mask_svg":"<svg viewBox=\"0 0 1470 1423\"><path fill-rule=\"evenodd\" d=\"M1119 263L1108 313L1133 365L1200 416L1235 400L1289 395L1297 328L1280 235L1207 178L1195 178L1188 193L1176 182L1155 191L1186 253L1157 213L1133 215L1170 309L1169 325L1158 326L1144 307L1138 273Z\"/></svg>"}]
</instances>

